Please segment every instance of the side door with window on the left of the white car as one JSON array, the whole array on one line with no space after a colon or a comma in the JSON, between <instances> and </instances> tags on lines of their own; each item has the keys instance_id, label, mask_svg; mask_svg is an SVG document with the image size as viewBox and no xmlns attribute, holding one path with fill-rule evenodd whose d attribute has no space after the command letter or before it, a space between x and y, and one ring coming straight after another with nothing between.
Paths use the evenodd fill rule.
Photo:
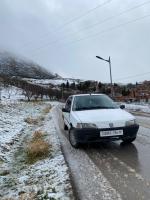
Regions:
<instances>
[{"instance_id":1,"label":"side door with window on the left of the white car","mask_svg":"<svg viewBox=\"0 0 150 200\"><path fill-rule=\"evenodd\" d=\"M65 109L67 112L64 112L64 121L65 124L69 127L70 126L70 111L71 111L71 104L72 104L72 97L69 97L65 104Z\"/></svg>"}]
</instances>

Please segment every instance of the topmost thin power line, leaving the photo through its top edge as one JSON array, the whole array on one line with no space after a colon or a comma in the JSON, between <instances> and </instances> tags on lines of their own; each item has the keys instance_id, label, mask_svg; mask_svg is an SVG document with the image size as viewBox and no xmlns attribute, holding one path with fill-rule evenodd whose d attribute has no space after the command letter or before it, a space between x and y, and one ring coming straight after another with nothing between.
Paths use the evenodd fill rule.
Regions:
<instances>
[{"instance_id":1,"label":"topmost thin power line, leaving the photo through its top edge","mask_svg":"<svg viewBox=\"0 0 150 200\"><path fill-rule=\"evenodd\" d=\"M46 37L46 36L49 35L49 34L53 34L53 33L56 33L56 32L58 32L58 31L62 30L62 29L65 28L67 25L72 24L72 23L74 23L74 22L80 20L81 18L83 18L83 17L89 15L90 13L94 12L96 9L99 9L99 8L105 6L106 4L110 3L111 1L113 1L113 0L105 1L105 2L102 3L102 4L99 4L99 5L97 5L96 7L92 8L92 9L89 9L87 12L85 12L85 13L79 15L79 16L76 16L76 17L72 18L71 20L66 21L64 24L62 24L62 25L56 27L56 28L54 29L54 31L51 31L51 32L47 33L46 35L43 35L42 37ZM33 41L31 41L31 42L28 43L28 44L31 44L31 43L33 43Z\"/></svg>"}]
</instances>

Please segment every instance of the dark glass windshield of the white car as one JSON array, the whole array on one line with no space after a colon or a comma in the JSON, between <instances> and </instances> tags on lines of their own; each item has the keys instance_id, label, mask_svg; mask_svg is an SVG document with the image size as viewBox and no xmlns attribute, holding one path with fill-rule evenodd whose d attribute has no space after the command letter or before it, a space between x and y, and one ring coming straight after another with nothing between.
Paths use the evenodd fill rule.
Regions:
<instances>
[{"instance_id":1,"label":"dark glass windshield of the white car","mask_svg":"<svg viewBox=\"0 0 150 200\"><path fill-rule=\"evenodd\" d=\"M116 103L106 95L76 96L73 103L73 111L92 109L115 109Z\"/></svg>"}]
</instances>

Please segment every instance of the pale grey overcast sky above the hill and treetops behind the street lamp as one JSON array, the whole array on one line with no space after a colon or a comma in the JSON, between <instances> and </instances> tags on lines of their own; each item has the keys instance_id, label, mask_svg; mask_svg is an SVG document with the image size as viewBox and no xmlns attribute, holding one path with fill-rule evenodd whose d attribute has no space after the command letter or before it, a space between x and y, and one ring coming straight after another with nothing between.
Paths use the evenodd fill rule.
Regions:
<instances>
[{"instance_id":1,"label":"pale grey overcast sky above the hill and treetops behind the street lamp","mask_svg":"<svg viewBox=\"0 0 150 200\"><path fill-rule=\"evenodd\" d=\"M150 80L148 15L148 0L0 0L0 47L63 77L109 82L99 55L113 82Z\"/></svg>"}]
</instances>

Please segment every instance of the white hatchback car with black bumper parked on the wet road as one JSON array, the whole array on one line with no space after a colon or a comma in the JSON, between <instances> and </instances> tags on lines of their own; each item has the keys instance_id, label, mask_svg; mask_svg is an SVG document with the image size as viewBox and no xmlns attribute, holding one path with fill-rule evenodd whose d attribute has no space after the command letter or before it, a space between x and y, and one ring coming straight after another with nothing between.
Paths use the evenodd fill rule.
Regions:
<instances>
[{"instance_id":1,"label":"white hatchback car with black bumper parked on the wet road","mask_svg":"<svg viewBox=\"0 0 150 200\"><path fill-rule=\"evenodd\" d=\"M123 108L104 94L70 96L62 112L71 145L78 148L82 143L119 139L133 142L139 125Z\"/></svg>"}]
</instances>

